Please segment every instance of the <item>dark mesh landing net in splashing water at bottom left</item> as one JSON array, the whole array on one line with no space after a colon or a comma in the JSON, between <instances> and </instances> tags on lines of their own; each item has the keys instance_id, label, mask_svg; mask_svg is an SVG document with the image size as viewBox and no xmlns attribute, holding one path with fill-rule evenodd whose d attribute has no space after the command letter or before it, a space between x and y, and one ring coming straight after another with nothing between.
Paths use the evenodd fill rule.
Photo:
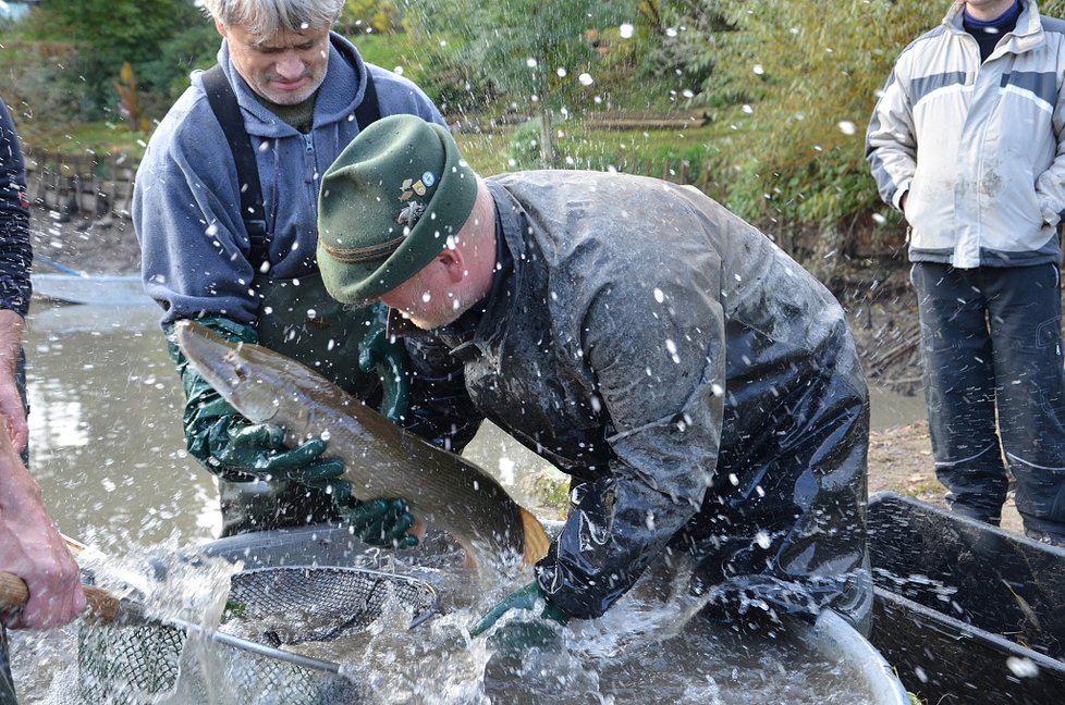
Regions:
<instances>
[{"instance_id":1,"label":"dark mesh landing net in splashing water at bottom left","mask_svg":"<svg viewBox=\"0 0 1065 705\"><path fill-rule=\"evenodd\" d=\"M262 653L194 639L185 629L159 622L85 624L78 635L85 702L357 702L359 687L352 678L290 663L289 654L278 647L365 630L383 610L397 605L413 613L412 626L417 624L437 606L429 583L363 568L256 568L235 573L230 585L219 632L261 645ZM196 648L189 648L193 642Z\"/></svg>"}]
</instances>

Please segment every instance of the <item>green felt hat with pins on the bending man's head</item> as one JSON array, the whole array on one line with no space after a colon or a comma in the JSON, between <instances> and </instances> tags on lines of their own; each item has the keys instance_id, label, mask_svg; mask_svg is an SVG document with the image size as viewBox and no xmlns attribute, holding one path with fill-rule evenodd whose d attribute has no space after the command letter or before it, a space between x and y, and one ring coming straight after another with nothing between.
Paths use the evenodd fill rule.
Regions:
<instances>
[{"instance_id":1,"label":"green felt hat with pins on the bending man's head","mask_svg":"<svg viewBox=\"0 0 1065 705\"><path fill-rule=\"evenodd\" d=\"M372 123L321 180L318 267L329 295L362 305L403 284L462 230L476 198L448 129L415 115Z\"/></svg>"}]
</instances>

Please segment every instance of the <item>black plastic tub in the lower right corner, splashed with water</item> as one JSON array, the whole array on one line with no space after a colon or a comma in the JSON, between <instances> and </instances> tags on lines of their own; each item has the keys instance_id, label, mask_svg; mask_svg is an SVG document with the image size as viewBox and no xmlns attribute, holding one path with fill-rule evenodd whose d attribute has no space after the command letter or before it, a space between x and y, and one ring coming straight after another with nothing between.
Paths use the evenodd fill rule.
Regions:
<instances>
[{"instance_id":1,"label":"black plastic tub in the lower right corner, splashed with water","mask_svg":"<svg viewBox=\"0 0 1065 705\"><path fill-rule=\"evenodd\" d=\"M870 641L929 704L1065 703L1065 551L892 493L869 498Z\"/></svg>"}]
</instances>

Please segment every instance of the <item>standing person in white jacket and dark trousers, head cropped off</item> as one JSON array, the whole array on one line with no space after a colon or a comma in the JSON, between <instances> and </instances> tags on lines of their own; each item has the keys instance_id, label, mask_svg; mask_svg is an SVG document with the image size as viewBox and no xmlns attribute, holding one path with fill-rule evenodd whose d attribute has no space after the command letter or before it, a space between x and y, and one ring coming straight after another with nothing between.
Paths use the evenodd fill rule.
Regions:
<instances>
[{"instance_id":1,"label":"standing person in white jacket and dark trousers, head cropped off","mask_svg":"<svg viewBox=\"0 0 1065 705\"><path fill-rule=\"evenodd\" d=\"M909 223L925 395L952 509L1065 545L1065 22L959 0L898 57L866 154Z\"/></svg>"}]
</instances>

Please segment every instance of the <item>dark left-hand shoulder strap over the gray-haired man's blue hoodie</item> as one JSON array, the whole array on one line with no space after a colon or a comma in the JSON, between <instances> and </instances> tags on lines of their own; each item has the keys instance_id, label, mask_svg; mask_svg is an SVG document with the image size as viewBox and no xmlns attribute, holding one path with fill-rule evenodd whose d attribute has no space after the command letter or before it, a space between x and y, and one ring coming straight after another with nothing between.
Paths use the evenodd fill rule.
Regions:
<instances>
[{"instance_id":1,"label":"dark left-hand shoulder strap over the gray-haired man's blue hoodie","mask_svg":"<svg viewBox=\"0 0 1065 705\"><path fill-rule=\"evenodd\" d=\"M252 138L244 129L244 118L236 102L236 94L225 78L222 66L215 64L204 72L204 89L215 112L218 124L222 126L225 141L233 153L236 177L241 184L241 217L252 238L253 264L257 265L259 252L266 252L266 213L262 208L262 187L259 185L259 169L255 164L255 150Z\"/></svg>"}]
</instances>

